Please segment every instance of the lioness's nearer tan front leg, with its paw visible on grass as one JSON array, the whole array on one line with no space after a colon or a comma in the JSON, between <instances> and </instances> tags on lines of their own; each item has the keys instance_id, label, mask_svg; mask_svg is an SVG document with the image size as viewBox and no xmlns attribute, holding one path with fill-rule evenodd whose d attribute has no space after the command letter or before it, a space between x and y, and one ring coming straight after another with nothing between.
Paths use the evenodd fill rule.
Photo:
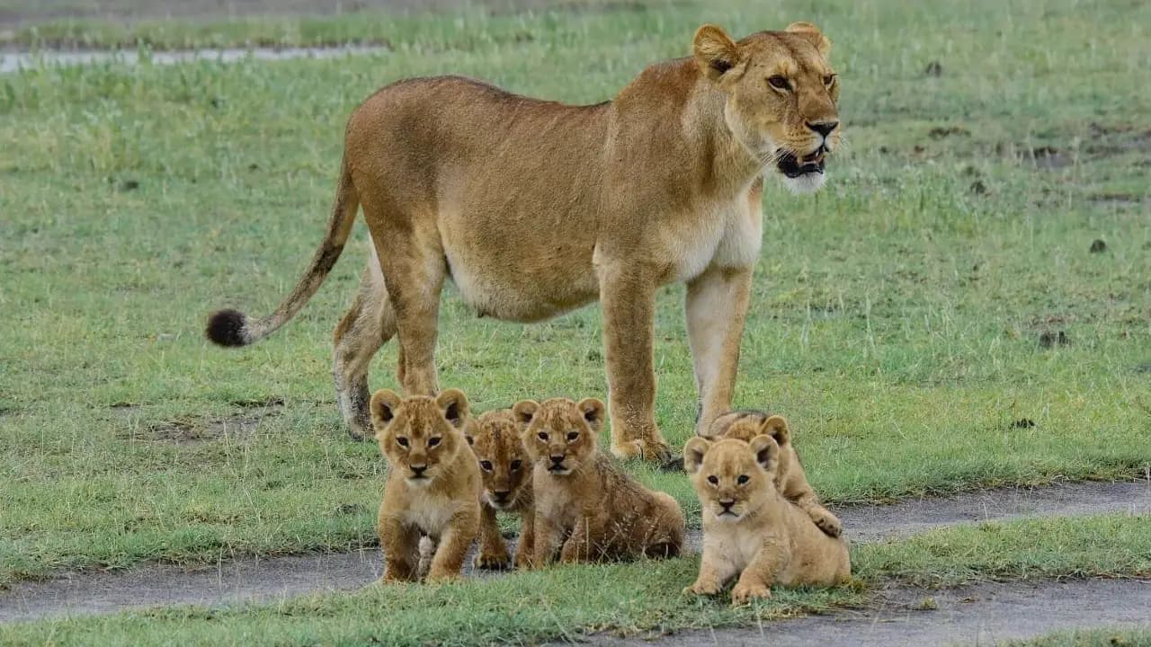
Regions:
<instances>
[{"instance_id":1,"label":"lioness's nearer tan front leg, with its paw visible on grass","mask_svg":"<svg viewBox=\"0 0 1151 647\"><path fill-rule=\"evenodd\" d=\"M651 343L656 282L633 267L602 268L603 342L611 408L611 452L666 462L671 451L655 425Z\"/></svg>"}]
</instances>

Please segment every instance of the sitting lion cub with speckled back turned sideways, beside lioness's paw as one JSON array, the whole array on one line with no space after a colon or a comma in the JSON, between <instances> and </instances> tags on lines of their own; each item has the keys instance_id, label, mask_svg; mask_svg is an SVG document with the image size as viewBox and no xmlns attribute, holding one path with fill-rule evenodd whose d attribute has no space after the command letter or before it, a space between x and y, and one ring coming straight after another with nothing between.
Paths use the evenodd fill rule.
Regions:
<instances>
[{"instance_id":1,"label":"sitting lion cub with speckled back turned sideways, beside lioness's paw","mask_svg":"<svg viewBox=\"0 0 1151 647\"><path fill-rule=\"evenodd\" d=\"M535 464L534 566L678 555L684 513L676 500L638 484L596 449L603 403L555 397L517 403L524 446Z\"/></svg>"}]
</instances>

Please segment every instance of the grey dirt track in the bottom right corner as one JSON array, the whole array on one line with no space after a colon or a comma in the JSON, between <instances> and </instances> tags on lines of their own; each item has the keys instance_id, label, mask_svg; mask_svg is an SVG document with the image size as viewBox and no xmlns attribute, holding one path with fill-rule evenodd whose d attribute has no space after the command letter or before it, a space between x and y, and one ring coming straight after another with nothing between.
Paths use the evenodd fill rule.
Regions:
<instances>
[{"instance_id":1,"label":"grey dirt track in the bottom right corner","mask_svg":"<svg viewBox=\"0 0 1151 647\"><path fill-rule=\"evenodd\" d=\"M923 610L930 597L936 609ZM692 631L658 640L595 635L610 647L772 645L994 645L1076 627L1151 627L1151 581L1067 580L980 584L944 591L894 588L871 609L773 622L763 627Z\"/></svg>"}]
</instances>

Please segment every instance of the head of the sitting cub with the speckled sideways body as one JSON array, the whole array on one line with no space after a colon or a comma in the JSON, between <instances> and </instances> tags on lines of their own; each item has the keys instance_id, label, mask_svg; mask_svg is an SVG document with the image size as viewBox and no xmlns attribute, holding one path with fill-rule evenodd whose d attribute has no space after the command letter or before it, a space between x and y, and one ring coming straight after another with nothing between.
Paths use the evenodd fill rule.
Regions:
<instances>
[{"instance_id":1,"label":"head of the sitting cub with the speckled sideways body","mask_svg":"<svg viewBox=\"0 0 1151 647\"><path fill-rule=\"evenodd\" d=\"M512 408L527 455L557 475L572 473L595 456L603 411L603 402L594 397L554 397L542 404L525 399Z\"/></svg>"}]
</instances>

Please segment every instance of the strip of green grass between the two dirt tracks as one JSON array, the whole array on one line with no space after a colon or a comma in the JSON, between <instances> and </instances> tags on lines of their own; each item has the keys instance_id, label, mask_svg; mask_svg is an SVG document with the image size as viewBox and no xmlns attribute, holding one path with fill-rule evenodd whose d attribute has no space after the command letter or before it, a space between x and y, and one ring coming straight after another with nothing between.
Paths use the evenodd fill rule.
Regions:
<instances>
[{"instance_id":1,"label":"strip of green grass between the two dirt tracks","mask_svg":"<svg viewBox=\"0 0 1151 647\"><path fill-rule=\"evenodd\" d=\"M696 556L665 562L565 566L451 585L372 586L244 608L192 607L0 625L3 645L488 645L532 644L588 632L663 633L749 624L860 606L868 589L915 577L959 584L998 579L1151 573L1148 516L1107 515L933 531L854 551L856 581L836 589L776 589L753 607L679 594ZM974 548L974 549L973 549Z\"/></svg>"}]
</instances>

